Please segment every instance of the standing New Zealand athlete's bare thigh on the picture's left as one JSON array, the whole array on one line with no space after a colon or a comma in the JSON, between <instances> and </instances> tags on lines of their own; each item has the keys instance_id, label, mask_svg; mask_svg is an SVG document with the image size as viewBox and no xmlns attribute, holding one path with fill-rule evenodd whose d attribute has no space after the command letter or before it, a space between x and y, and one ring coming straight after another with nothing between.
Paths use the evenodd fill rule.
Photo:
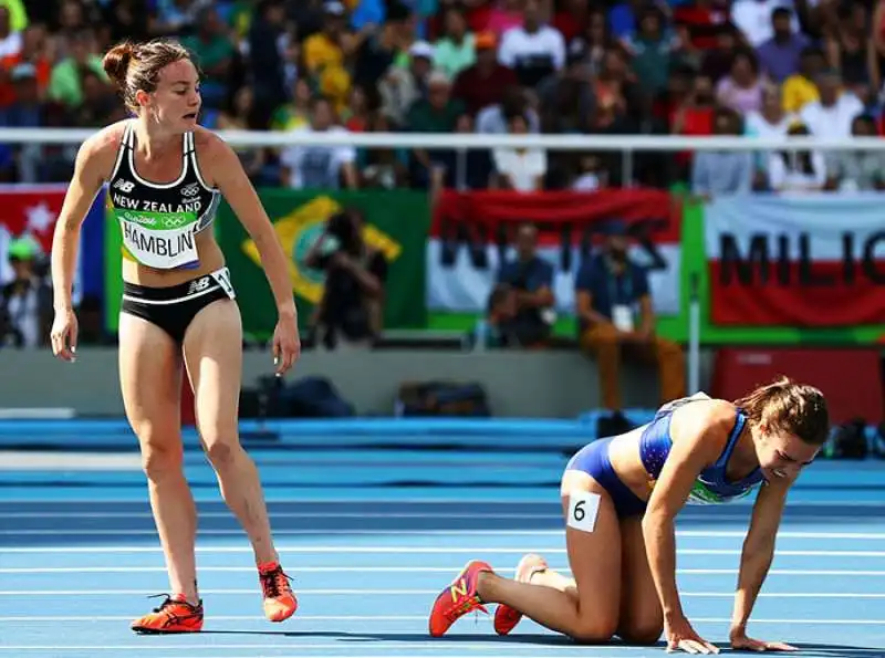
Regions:
<instances>
[{"instance_id":1,"label":"standing New Zealand athlete's bare thigh on the picture's left","mask_svg":"<svg viewBox=\"0 0 885 658\"><path fill-rule=\"evenodd\" d=\"M119 314L119 384L126 418L144 446L180 449L181 356L156 324Z\"/></svg>"}]
</instances>

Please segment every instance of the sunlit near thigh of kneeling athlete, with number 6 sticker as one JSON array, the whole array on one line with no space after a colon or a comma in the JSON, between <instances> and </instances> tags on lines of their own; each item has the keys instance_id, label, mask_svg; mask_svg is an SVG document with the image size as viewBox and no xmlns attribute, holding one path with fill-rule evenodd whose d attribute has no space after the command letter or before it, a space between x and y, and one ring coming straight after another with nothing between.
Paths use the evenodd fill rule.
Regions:
<instances>
[{"instance_id":1,"label":"sunlit near thigh of kneeling athlete, with number 6 sticker","mask_svg":"<svg viewBox=\"0 0 885 658\"><path fill-rule=\"evenodd\" d=\"M621 530L614 503L598 482L577 470L565 471L560 493L565 516L565 546L577 586L581 616L593 619L593 628L587 629L593 631L590 635L611 636L617 627L621 603ZM572 508L572 499L576 501L576 497L586 493L592 494L591 499L579 513ZM575 528L585 524L593 513L592 526ZM573 520L570 521L570 516Z\"/></svg>"}]
</instances>

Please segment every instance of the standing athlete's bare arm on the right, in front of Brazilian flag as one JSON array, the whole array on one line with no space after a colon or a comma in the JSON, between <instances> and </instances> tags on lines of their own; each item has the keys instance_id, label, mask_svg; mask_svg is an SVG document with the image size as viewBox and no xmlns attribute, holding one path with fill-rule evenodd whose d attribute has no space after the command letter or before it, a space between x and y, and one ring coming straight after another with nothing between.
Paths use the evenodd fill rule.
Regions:
<instances>
[{"instance_id":1,"label":"standing athlete's bare arm on the right, in front of Brazilian flag","mask_svg":"<svg viewBox=\"0 0 885 658\"><path fill-rule=\"evenodd\" d=\"M277 301L280 322L287 325L283 332L285 335L274 336L274 351L279 352L274 356L280 358L277 372L282 374L292 366L301 349L298 341L295 300L292 296L292 283L289 278L289 261L273 224L258 198L258 192L233 149L209 130L196 130L194 136L198 153L205 154L200 157L200 166L208 178L207 184L215 185L221 191L254 240L261 255L261 264Z\"/></svg>"}]
</instances>

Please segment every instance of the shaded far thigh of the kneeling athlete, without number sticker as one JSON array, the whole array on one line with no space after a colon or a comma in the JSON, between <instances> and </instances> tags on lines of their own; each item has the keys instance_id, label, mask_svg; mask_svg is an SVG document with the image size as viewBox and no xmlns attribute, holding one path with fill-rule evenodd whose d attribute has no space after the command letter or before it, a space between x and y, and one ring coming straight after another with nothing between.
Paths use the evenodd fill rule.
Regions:
<instances>
[{"instance_id":1,"label":"shaded far thigh of the kneeling athlete, without number sticker","mask_svg":"<svg viewBox=\"0 0 885 658\"><path fill-rule=\"evenodd\" d=\"M631 643L657 641L664 631L664 612L648 565L639 516L621 522L621 545L623 579L617 634Z\"/></svg>"}]
</instances>

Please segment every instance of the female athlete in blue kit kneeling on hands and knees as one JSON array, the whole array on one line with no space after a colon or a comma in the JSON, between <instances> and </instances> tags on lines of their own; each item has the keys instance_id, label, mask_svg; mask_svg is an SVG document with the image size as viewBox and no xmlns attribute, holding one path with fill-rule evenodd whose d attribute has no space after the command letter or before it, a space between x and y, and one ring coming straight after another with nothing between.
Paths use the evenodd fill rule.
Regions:
<instances>
[{"instance_id":1,"label":"female athlete in blue kit kneeling on hands and knees","mask_svg":"<svg viewBox=\"0 0 885 658\"><path fill-rule=\"evenodd\" d=\"M594 441L565 467L561 498L574 579L527 555L516 581L479 561L439 595L430 635L462 615L501 604L494 629L522 615L583 641L650 644L718 652L686 619L676 588L674 519L687 500L726 502L763 483L743 543L731 619L735 648L789 650L747 636L747 622L774 556L787 491L826 440L826 401L811 386L782 379L731 404L699 394L669 403L654 420Z\"/></svg>"}]
</instances>

